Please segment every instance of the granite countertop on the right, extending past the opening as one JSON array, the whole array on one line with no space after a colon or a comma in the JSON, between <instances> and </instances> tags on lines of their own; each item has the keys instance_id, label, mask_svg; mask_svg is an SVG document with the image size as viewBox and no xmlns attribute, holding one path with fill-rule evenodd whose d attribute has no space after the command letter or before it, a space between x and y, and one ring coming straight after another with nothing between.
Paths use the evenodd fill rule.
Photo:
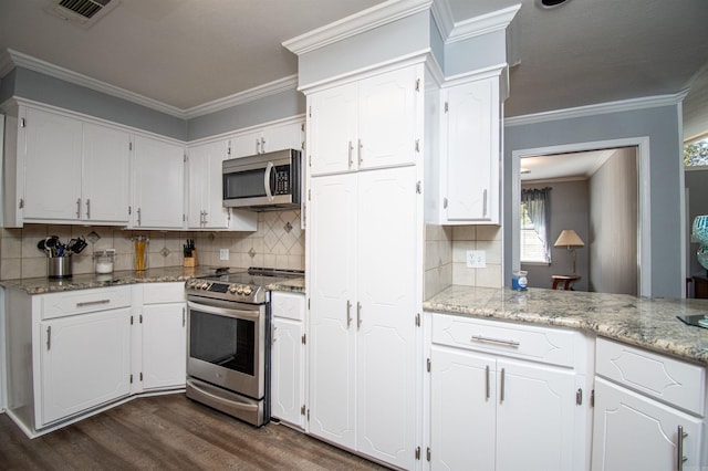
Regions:
<instances>
[{"instance_id":1,"label":"granite countertop on the right, extending past the opening","mask_svg":"<svg viewBox=\"0 0 708 471\"><path fill-rule=\"evenodd\" d=\"M708 300L454 285L423 303L425 311L571 327L708 366L708 328L677 315L708 315Z\"/></svg>"}]
</instances>

